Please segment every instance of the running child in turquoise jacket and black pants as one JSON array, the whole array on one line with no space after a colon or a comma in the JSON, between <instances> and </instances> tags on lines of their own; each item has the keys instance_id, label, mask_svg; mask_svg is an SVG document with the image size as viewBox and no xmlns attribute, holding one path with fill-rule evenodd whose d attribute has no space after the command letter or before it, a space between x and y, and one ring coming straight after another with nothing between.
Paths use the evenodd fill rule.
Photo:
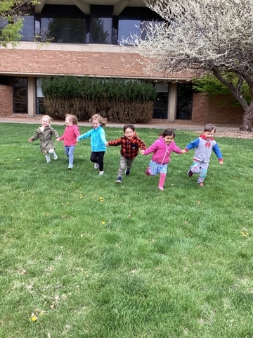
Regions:
<instances>
[{"instance_id":1,"label":"running child in turquoise jacket and black pants","mask_svg":"<svg viewBox=\"0 0 253 338\"><path fill-rule=\"evenodd\" d=\"M107 143L103 126L106 125L107 119L102 118L99 114L95 114L91 116L89 122L91 122L93 128L85 134L80 135L77 138L77 142L81 141L81 139L91 137L91 162L95 163L95 169L99 168L99 175L103 175L103 158L106 150L105 144Z\"/></svg>"}]
</instances>

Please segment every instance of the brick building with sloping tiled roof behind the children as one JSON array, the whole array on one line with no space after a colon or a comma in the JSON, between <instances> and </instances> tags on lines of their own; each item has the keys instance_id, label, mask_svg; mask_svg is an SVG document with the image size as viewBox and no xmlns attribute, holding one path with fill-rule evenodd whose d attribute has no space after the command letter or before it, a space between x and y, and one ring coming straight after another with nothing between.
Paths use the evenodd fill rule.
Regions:
<instances>
[{"instance_id":1,"label":"brick building with sloping tiled roof behind the children","mask_svg":"<svg viewBox=\"0 0 253 338\"><path fill-rule=\"evenodd\" d=\"M153 19L162 20L143 0L42 0L24 17L18 47L0 48L0 116L43 114L41 77L88 75L152 82L154 121L240 125L242 109L193 92L193 74L147 74L136 51L120 44ZM39 33L51 43L34 42Z\"/></svg>"}]
</instances>

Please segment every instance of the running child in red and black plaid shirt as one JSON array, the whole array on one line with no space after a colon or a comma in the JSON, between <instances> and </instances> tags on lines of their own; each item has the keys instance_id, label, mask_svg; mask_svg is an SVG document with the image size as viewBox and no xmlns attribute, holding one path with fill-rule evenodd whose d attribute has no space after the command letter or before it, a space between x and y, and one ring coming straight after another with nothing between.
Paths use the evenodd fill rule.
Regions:
<instances>
[{"instance_id":1,"label":"running child in red and black plaid shirt","mask_svg":"<svg viewBox=\"0 0 253 338\"><path fill-rule=\"evenodd\" d=\"M121 146L119 170L116 183L122 182L122 175L125 170L126 176L130 174L131 166L134 158L138 155L138 150L143 151L147 149L145 143L137 136L134 125L127 124L123 127L124 136L119 137L113 141L109 141L107 146Z\"/></svg>"}]
</instances>

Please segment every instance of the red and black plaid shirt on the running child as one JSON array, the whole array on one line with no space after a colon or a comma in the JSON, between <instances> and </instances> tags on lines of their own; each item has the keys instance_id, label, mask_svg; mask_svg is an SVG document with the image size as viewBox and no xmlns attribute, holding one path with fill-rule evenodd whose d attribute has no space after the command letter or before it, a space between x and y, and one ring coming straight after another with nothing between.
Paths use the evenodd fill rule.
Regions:
<instances>
[{"instance_id":1,"label":"red and black plaid shirt on the running child","mask_svg":"<svg viewBox=\"0 0 253 338\"><path fill-rule=\"evenodd\" d=\"M119 139L109 141L108 144L109 146L121 146L120 154L128 159L136 158L140 148L141 150L147 149L145 143L137 135L134 135L131 139L126 136L119 137Z\"/></svg>"}]
</instances>

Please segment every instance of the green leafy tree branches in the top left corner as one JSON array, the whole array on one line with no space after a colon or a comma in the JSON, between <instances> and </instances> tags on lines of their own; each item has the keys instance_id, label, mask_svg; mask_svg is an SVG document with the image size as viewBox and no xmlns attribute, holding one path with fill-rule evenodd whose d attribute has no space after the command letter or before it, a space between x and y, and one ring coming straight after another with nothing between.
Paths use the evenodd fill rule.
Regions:
<instances>
[{"instance_id":1,"label":"green leafy tree branches in the top left corner","mask_svg":"<svg viewBox=\"0 0 253 338\"><path fill-rule=\"evenodd\" d=\"M16 46L23 26L20 15L29 14L32 6L39 3L39 0L0 0L0 46L6 47L9 42Z\"/></svg>"}]
</instances>

